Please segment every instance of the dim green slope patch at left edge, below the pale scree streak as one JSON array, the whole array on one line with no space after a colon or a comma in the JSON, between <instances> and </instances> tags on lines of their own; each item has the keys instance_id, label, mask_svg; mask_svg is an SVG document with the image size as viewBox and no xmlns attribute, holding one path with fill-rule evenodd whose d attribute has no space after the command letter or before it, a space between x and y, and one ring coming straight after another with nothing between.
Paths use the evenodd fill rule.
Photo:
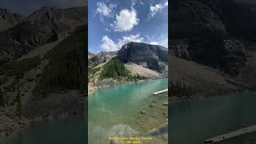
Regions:
<instances>
[{"instance_id":1,"label":"dim green slope patch at left edge, below the pale scree streak","mask_svg":"<svg viewBox=\"0 0 256 144\"><path fill-rule=\"evenodd\" d=\"M0 74L15 76L15 78L23 78L28 70L34 69L41 62L39 57L27 58L20 62L12 62L10 64L0 66Z\"/></svg>"}]
</instances>

